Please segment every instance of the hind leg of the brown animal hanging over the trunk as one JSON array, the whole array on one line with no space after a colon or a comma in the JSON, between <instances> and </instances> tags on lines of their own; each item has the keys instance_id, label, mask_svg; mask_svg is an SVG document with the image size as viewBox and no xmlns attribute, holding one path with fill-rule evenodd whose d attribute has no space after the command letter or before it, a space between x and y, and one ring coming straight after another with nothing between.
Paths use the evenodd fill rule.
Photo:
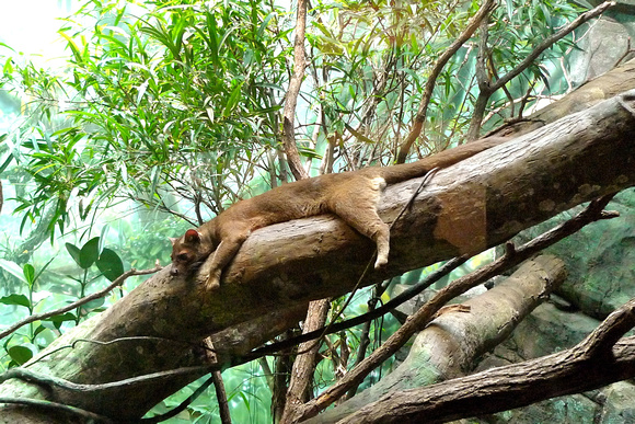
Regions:
<instances>
[{"instance_id":1,"label":"hind leg of the brown animal hanging over the trunk","mask_svg":"<svg viewBox=\"0 0 635 424\"><path fill-rule=\"evenodd\" d=\"M358 187L360 188L360 187ZM374 241L379 268L388 263L390 227L377 215L377 202L383 184L372 184L357 192L340 194L334 198L332 210L350 227Z\"/></svg>"}]
</instances>

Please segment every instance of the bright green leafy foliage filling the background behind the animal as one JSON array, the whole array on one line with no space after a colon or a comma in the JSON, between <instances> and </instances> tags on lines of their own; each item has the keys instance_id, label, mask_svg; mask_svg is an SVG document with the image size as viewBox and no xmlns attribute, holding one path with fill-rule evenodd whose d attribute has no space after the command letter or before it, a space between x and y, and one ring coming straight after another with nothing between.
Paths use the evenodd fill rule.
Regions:
<instances>
[{"instance_id":1,"label":"bright green leafy foliage filling the background behind the animal","mask_svg":"<svg viewBox=\"0 0 635 424\"><path fill-rule=\"evenodd\" d=\"M313 175L393 161L431 65L478 3L311 3L296 140ZM490 77L508 72L577 16L579 3L504 1L489 28ZM157 259L168 264L168 237L290 177L279 142L293 61L295 2L92 0L72 5L72 14L59 22L62 60L43 64L0 44L2 325L67 305L124 270L148 268ZM478 94L477 43L473 38L444 67L412 159L463 141ZM563 77L573 48L572 38L563 39L496 92L483 131L568 89ZM486 259L474 259L459 273ZM401 280L411 283L427 272ZM105 299L5 337L0 368L24 363L139 282L129 279ZM339 319L362 312L369 297L369 290L356 295ZM342 303L336 300L334 309ZM376 322L372 345L397 325L389 317ZM359 332L332 341L340 354L355 352ZM332 359L327 355L320 364L316 389L335 378ZM223 374L235 422L270 422L263 365ZM176 405L196 387L155 412ZM178 420L217 421L213 390Z\"/></svg>"}]
</instances>

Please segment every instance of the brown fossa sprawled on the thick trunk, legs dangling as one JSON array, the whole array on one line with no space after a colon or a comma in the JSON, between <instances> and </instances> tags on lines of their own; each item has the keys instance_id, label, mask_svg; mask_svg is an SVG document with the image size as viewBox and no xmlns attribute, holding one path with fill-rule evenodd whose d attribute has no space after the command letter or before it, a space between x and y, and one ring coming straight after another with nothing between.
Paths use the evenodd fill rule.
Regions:
<instances>
[{"instance_id":1,"label":"brown fossa sprawled on the thick trunk, legs dangling","mask_svg":"<svg viewBox=\"0 0 635 424\"><path fill-rule=\"evenodd\" d=\"M506 141L485 138L444 150L413 163L370 167L354 172L325 174L273 188L241 200L180 239L171 239L172 275L188 273L212 252L208 289L218 288L222 270L240 247L258 228L314 215L332 213L377 244L378 268L388 263L389 226L377 215L377 202L386 184L425 175L434 168L447 168Z\"/></svg>"}]
</instances>

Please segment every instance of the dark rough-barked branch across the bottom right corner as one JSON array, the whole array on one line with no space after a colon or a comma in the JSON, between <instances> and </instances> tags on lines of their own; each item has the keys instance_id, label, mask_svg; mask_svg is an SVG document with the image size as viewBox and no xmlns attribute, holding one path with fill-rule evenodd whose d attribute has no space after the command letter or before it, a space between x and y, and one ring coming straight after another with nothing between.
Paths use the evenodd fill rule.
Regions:
<instances>
[{"instance_id":1,"label":"dark rough-barked branch across the bottom right corner","mask_svg":"<svg viewBox=\"0 0 635 424\"><path fill-rule=\"evenodd\" d=\"M635 299L613 312L570 349L422 389L394 392L347 416L346 423L441 423L524 406L633 378L635 336L613 344L614 334L633 325Z\"/></svg>"}]
</instances>

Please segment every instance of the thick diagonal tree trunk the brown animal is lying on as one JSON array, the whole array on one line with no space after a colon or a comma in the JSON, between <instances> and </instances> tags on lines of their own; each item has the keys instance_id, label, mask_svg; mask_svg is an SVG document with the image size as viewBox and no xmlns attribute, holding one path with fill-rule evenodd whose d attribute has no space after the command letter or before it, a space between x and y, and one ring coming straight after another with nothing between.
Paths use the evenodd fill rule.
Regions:
<instances>
[{"instance_id":1,"label":"thick diagonal tree trunk the brown animal is lying on","mask_svg":"<svg viewBox=\"0 0 635 424\"><path fill-rule=\"evenodd\" d=\"M388 266L371 272L362 285L482 251L574 205L634 185L634 95L602 102L441 170L393 227ZM379 205L385 221L394 219L417 185L409 181L386 190ZM201 364L205 355L197 346L211 333L350 290L372 248L334 217L264 228L242 247L218 291L205 293L194 279L171 278L164 270L101 316L69 331L47 352L80 337L159 339L108 345L80 342L30 368L99 383ZM263 326L250 340L256 345L273 332L272 325ZM50 399L134 421L200 373L193 374L91 393L54 389ZM0 386L0 396L43 397L35 387L15 380ZM3 419L15 422L26 413L38 415L32 409L5 406ZM39 416L55 422L44 413Z\"/></svg>"}]
</instances>

